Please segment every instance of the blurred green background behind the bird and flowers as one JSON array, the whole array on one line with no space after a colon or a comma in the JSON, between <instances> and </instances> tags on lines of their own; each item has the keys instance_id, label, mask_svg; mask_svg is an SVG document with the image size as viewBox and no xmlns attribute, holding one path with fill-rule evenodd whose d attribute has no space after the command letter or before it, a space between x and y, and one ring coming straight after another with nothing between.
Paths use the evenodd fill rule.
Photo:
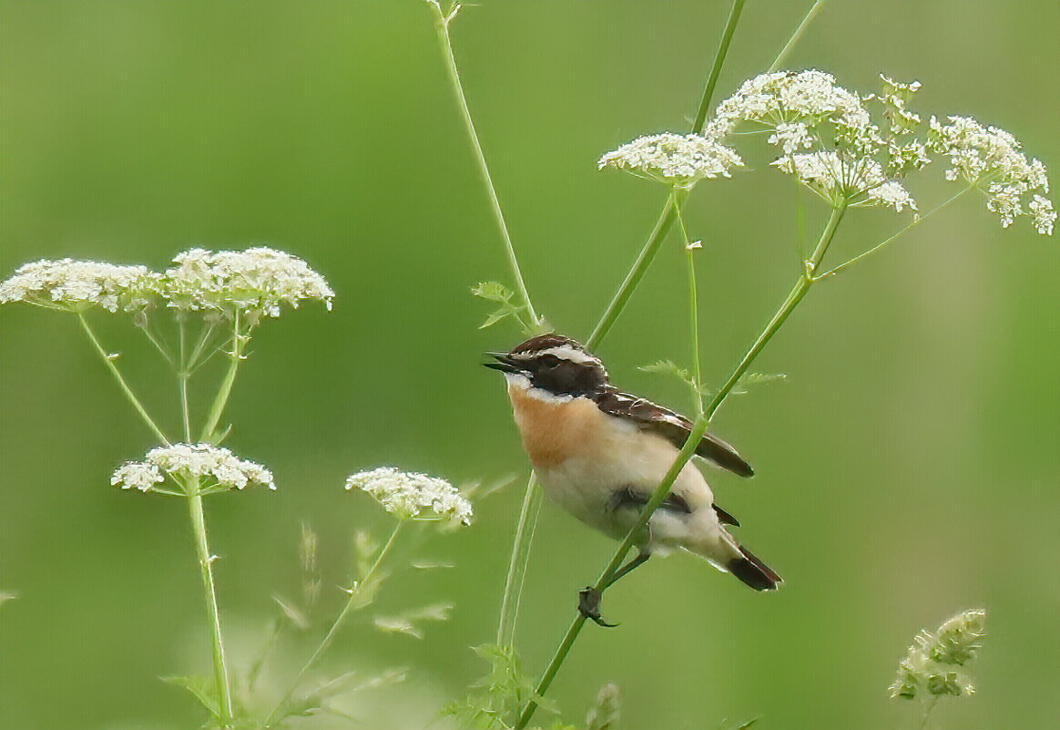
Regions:
<instances>
[{"instance_id":1,"label":"blurred green background behind the bird and flowers","mask_svg":"<svg viewBox=\"0 0 1060 730\"><path fill-rule=\"evenodd\" d=\"M809 4L747 3L718 99L768 66ZM483 0L456 22L529 286L560 330L587 334L664 196L596 172L597 157L687 126L727 6ZM789 66L864 91L880 71L919 79L920 110L997 124L1056 166L1058 23L1044 2L836 0ZM467 647L493 638L527 470L499 378L478 364L517 333L476 329L487 310L469 286L507 270L428 8L5 0L0 85L0 277L42 257L163 267L194 245L265 243L337 292L330 314L265 323L228 413L229 446L280 486L207 505L237 664L276 612L270 596L297 592L300 521L320 534L329 611L353 532L385 528L342 491L348 473L515 477L472 529L404 554L456 568L401 573L381 598L381 611L450 599L452 621L416 641L373 632L366 615L325 662L366 678L412 667L349 708L368 727L428 723L485 668ZM926 209L949 190L914 192ZM701 321L718 383L797 272L791 183L707 183L688 211L706 242ZM836 247L906 220L851 214ZM666 245L600 353L620 385L684 407L678 386L637 370L685 359L678 251ZM716 475L718 501L787 586L761 595L691 558L653 561L607 596L621 627L588 627L564 667L552 694L567 718L615 681L624 728L915 727L918 708L886 696L898 659L919 628L984 606L979 693L939 707L939 726L1060 725L1057 260L1054 240L1024 222L1002 230L969 197L817 288L756 368L788 383L734 398L714 427L758 472ZM138 333L95 321L172 417L175 389ZM0 310L0 589L20 596L0 608L0 725L197 726L190 696L157 679L209 666L186 516L107 486L153 444L73 318ZM537 538L519 635L533 673L613 550L551 505ZM307 644L281 648L287 671Z\"/></svg>"}]
</instances>

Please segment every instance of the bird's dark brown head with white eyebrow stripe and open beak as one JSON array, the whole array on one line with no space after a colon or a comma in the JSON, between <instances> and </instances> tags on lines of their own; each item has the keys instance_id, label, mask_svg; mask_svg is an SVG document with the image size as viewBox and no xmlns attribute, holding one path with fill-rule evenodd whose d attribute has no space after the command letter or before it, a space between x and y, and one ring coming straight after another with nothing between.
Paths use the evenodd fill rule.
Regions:
<instances>
[{"instance_id":1,"label":"bird's dark brown head with white eyebrow stripe and open beak","mask_svg":"<svg viewBox=\"0 0 1060 730\"><path fill-rule=\"evenodd\" d=\"M504 372L509 384L523 384L551 396L591 396L607 384L603 363L562 334L541 334L508 352L485 354L496 361L485 366Z\"/></svg>"}]
</instances>

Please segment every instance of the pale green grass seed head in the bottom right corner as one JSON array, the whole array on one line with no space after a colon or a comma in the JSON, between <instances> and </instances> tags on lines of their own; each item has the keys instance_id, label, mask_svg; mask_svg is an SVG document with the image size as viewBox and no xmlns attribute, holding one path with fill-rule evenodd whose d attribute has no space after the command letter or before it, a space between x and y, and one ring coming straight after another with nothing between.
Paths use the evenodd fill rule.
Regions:
<instances>
[{"instance_id":1,"label":"pale green grass seed head in the bottom right corner","mask_svg":"<svg viewBox=\"0 0 1060 730\"><path fill-rule=\"evenodd\" d=\"M955 667L974 659L983 647L986 616L986 611L979 608L961 611L936 631L918 633L898 665L890 696L915 699L924 694L938 697L974 693L971 680Z\"/></svg>"}]
</instances>

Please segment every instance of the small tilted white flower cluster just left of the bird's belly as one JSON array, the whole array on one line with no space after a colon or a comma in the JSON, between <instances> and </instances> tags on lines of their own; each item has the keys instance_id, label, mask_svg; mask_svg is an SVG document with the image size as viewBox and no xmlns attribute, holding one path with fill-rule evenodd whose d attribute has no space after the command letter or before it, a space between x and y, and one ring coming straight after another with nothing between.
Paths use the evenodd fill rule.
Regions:
<instances>
[{"instance_id":1,"label":"small tilted white flower cluster just left of the bird's belly","mask_svg":"<svg viewBox=\"0 0 1060 730\"><path fill-rule=\"evenodd\" d=\"M471 524L471 502L442 479L379 467L350 475L346 480L346 488L368 492L384 509L400 519L419 517L422 510L427 509L453 522Z\"/></svg>"}]
</instances>

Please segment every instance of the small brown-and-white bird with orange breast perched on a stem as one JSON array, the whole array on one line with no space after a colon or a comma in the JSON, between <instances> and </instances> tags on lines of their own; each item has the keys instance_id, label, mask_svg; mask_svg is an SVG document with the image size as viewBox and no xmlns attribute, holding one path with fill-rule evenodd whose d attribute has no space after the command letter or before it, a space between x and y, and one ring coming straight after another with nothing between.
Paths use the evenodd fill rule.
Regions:
<instances>
[{"instance_id":1,"label":"small brown-and-white bird with orange breast perched on a stem","mask_svg":"<svg viewBox=\"0 0 1060 730\"><path fill-rule=\"evenodd\" d=\"M485 355L492 362L484 365L505 375L523 446L545 494L585 524L624 539L692 422L612 385L600 359L562 334L536 335ZM755 473L736 449L709 433L695 454L740 476ZM653 554L683 550L757 591L776 589L780 576L728 532L739 525L714 504L706 479L689 462L652 515L639 554L614 579ZM583 614L599 619L598 602L599 595L588 598Z\"/></svg>"}]
</instances>

